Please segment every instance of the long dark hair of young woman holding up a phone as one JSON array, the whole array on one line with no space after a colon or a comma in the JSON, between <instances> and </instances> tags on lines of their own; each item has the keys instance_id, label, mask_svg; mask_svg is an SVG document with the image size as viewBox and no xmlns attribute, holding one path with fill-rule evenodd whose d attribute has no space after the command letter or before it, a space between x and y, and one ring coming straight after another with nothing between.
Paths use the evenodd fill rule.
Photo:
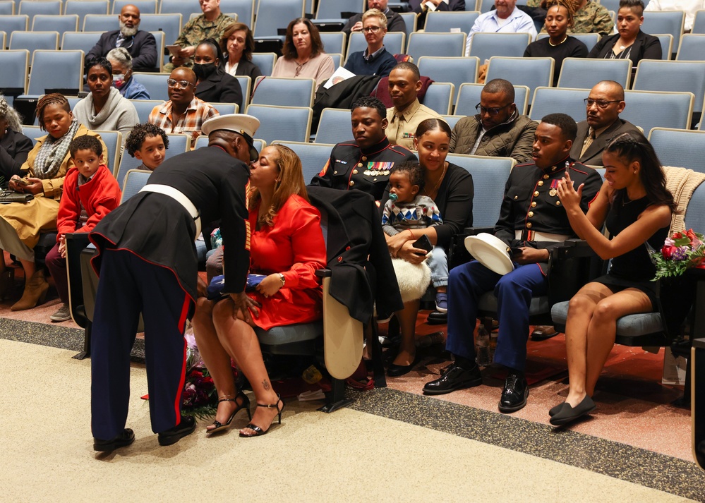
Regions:
<instances>
[{"instance_id":1,"label":"long dark hair of young woman holding up a phone","mask_svg":"<svg viewBox=\"0 0 705 503\"><path fill-rule=\"evenodd\" d=\"M672 212L677 212L678 205L673 200L673 194L665 186L665 174L661 169L661 161L658 160L658 155L649 140L646 140L646 136L639 131L622 133L610 140L609 145L605 147L605 152L615 154L627 163L639 161L641 166L639 178L646 189L646 197L654 205L666 205Z\"/></svg>"}]
</instances>

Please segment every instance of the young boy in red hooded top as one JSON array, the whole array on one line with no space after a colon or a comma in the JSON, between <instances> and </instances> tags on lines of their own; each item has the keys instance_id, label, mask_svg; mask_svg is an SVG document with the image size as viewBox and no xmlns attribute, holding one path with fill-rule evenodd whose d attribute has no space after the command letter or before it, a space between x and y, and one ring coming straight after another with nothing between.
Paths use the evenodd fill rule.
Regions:
<instances>
[{"instance_id":1,"label":"young boy in red hooded top","mask_svg":"<svg viewBox=\"0 0 705 503\"><path fill-rule=\"evenodd\" d=\"M120 187L100 164L103 147L94 136L78 136L68 147L74 167L64 178L64 193L56 219L56 245L47 254L47 268L64 305L51 316L52 321L71 320L68 308L68 273L66 272L66 233L90 232L106 214L120 204Z\"/></svg>"}]
</instances>

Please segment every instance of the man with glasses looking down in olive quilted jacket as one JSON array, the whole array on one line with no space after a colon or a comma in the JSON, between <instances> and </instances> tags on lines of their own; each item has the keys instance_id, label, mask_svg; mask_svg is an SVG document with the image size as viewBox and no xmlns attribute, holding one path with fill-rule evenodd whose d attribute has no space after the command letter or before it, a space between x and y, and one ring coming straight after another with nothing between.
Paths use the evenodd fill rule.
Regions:
<instances>
[{"instance_id":1,"label":"man with glasses looking down in olive quilted jacket","mask_svg":"<svg viewBox=\"0 0 705 503\"><path fill-rule=\"evenodd\" d=\"M531 161L536 121L519 115L514 86L508 80L490 80L480 93L478 113L460 119L453 128L450 152L512 157L519 164Z\"/></svg>"}]
</instances>

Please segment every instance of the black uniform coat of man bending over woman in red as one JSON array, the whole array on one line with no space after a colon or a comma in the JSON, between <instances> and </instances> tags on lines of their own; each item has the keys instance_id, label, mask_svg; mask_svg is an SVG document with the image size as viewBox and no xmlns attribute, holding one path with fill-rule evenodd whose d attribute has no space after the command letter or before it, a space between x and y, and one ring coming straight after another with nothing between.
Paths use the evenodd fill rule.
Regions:
<instances>
[{"instance_id":1,"label":"black uniform coat of man bending over woman in red","mask_svg":"<svg viewBox=\"0 0 705 503\"><path fill-rule=\"evenodd\" d=\"M221 219L226 293L245 289L250 266L245 186L249 171L242 161L220 147L202 147L165 160L147 184L177 188L198 208L201 222ZM142 192L107 214L90 240L98 248L92 260L100 272L105 248L131 250L147 262L174 271L181 288L195 301L198 258L195 224L179 202L168 195Z\"/></svg>"}]
</instances>

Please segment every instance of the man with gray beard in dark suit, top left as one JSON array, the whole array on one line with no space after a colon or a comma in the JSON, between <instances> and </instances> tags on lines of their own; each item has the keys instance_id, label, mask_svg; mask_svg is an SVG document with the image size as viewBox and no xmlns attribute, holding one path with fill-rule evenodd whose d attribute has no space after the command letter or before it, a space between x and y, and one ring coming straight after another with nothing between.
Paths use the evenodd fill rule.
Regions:
<instances>
[{"instance_id":1,"label":"man with gray beard in dark suit, top left","mask_svg":"<svg viewBox=\"0 0 705 503\"><path fill-rule=\"evenodd\" d=\"M119 30L105 32L100 35L97 44L85 55L85 66L88 68L93 60L106 56L116 47L124 47L132 56L134 71L154 71L159 68L157 62L157 41L150 32L141 31L140 9L126 5L118 16Z\"/></svg>"}]
</instances>

